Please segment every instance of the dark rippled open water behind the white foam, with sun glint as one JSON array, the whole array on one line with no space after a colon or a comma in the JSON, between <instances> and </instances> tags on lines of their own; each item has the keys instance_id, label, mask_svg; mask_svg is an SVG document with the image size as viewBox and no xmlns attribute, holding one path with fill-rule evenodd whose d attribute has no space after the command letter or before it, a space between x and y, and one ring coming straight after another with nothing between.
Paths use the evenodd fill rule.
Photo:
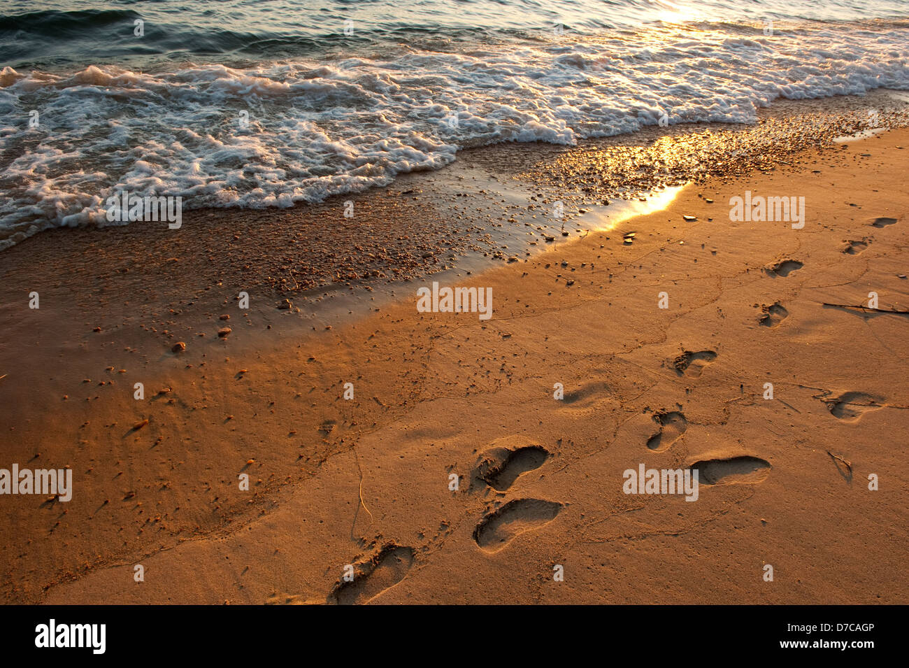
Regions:
<instances>
[{"instance_id":1,"label":"dark rippled open water behind the white foam, with sun glint","mask_svg":"<svg viewBox=\"0 0 909 668\"><path fill-rule=\"evenodd\" d=\"M40 7L38 9L37 7ZM16 69L345 55L413 43L456 48L654 23L905 17L903 0L72 0L0 2L0 65ZM135 21L145 35L134 35ZM345 35L345 21L348 35ZM556 28L558 29L558 28Z\"/></svg>"}]
</instances>

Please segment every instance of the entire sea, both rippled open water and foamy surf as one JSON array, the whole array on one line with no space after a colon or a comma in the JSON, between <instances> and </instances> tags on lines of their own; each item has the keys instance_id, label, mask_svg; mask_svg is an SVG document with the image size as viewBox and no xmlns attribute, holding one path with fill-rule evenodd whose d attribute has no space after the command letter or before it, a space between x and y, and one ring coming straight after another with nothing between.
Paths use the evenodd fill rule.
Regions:
<instances>
[{"instance_id":1,"label":"entire sea, both rippled open water and foamy surf","mask_svg":"<svg viewBox=\"0 0 909 668\"><path fill-rule=\"evenodd\" d=\"M185 208L317 202L459 149L754 123L909 88L892 0L0 2L0 250Z\"/></svg>"}]
</instances>

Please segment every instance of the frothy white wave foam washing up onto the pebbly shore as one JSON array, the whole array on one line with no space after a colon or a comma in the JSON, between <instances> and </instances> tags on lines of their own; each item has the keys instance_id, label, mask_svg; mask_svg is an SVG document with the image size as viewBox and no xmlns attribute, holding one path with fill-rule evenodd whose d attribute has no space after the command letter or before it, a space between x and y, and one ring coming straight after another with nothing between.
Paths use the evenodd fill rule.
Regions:
<instances>
[{"instance_id":1,"label":"frothy white wave foam washing up onto the pebbly shore","mask_svg":"<svg viewBox=\"0 0 909 668\"><path fill-rule=\"evenodd\" d=\"M6 67L0 249L48 226L109 224L104 202L117 190L179 195L187 208L291 206L442 167L464 146L571 145L664 114L670 124L754 123L777 97L906 89L906 36L893 23L777 26L772 36L663 25L248 69Z\"/></svg>"}]
</instances>

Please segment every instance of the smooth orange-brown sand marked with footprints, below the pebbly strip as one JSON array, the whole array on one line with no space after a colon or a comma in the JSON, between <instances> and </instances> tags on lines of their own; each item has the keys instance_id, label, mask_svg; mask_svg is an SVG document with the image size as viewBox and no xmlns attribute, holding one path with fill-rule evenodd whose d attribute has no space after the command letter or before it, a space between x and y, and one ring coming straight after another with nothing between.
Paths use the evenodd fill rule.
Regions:
<instances>
[{"instance_id":1,"label":"smooth orange-brown sand marked with footprints, below the pebbly strip","mask_svg":"<svg viewBox=\"0 0 909 668\"><path fill-rule=\"evenodd\" d=\"M488 321L418 313L424 281L312 315L249 279L240 311L237 258L283 250L274 226L223 253L191 224L14 247L0 466L70 466L75 492L0 497L3 599L909 602L909 316L823 305L909 311L905 146L808 149L435 278L491 287ZM804 196L804 229L731 222L746 190ZM696 464L697 501L624 494L639 464Z\"/></svg>"}]
</instances>

